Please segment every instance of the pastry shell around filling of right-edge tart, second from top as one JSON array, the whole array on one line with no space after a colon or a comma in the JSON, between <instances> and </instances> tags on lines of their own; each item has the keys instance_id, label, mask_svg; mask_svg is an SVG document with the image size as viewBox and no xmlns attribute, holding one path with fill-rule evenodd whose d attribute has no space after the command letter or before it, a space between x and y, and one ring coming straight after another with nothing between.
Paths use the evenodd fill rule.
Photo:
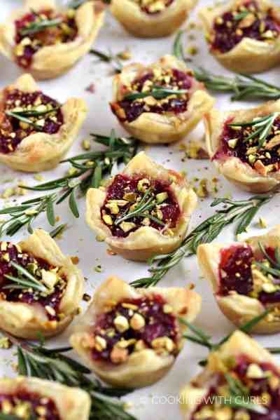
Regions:
<instances>
[{"instance_id":1,"label":"pastry shell around filling of right-edge tart, second from top","mask_svg":"<svg viewBox=\"0 0 280 420\"><path fill-rule=\"evenodd\" d=\"M222 144L221 136L224 126L229 119L242 123L252 121L253 118L267 116L280 111L280 100L266 102L252 109L240 109L237 111L221 112L213 109L204 118L205 139L210 158L218 171L237 187L252 193L265 193L271 191L280 184L280 172L270 172L267 176L253 169L248 163L243 163L235 156L223 156L214 158ZM233 121L232 121L233 122Z\"/></svg>"}]
</instances>

